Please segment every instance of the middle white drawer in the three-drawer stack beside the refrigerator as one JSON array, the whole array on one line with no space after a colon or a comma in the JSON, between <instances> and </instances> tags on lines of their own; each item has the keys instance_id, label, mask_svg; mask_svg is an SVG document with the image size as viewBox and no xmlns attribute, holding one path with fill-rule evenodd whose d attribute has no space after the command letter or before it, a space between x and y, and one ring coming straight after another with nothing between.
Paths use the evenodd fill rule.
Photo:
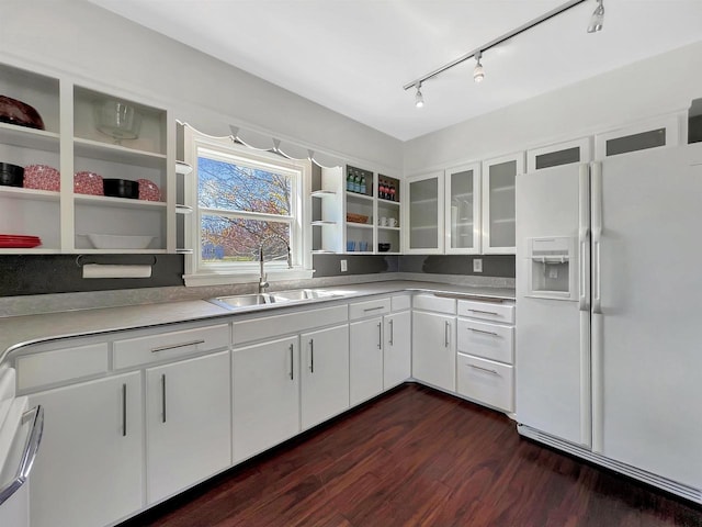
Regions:
<instances>
[{"instance_id":1,"label":"middle white drawer in the three-drawer stack beside the refrigerator","mask_svg":"<svg viewBox=\"0 0 702 527\"><path fill-rule=\"evenodd\" d=\"M458 351L486 359L514 361L514 327L458 318Z\"/></svg>"}]
</instances>

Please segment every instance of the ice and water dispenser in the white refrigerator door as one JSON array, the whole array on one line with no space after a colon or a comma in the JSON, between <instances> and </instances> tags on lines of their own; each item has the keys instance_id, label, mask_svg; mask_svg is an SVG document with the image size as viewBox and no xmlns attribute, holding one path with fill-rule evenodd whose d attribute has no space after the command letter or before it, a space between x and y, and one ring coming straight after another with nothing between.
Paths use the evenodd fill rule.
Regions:
<instances>
[{"instance_id":1,"label":"ice and water dispenser in the white refrigerator door","mask_svg":"<svg viewBox=\"0 0 702 527\"><path fill-rule=\"evenodd\" d=\"M548 236L526 239L528 296L577 300L577 255L575 239Z\"/></svg>"}]
</instances>

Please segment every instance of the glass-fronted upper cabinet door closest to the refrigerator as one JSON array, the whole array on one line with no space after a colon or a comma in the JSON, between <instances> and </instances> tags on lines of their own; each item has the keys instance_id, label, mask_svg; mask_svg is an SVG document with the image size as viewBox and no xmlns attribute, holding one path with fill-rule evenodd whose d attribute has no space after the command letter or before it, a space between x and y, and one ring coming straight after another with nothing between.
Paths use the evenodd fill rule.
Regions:
<instances>
[{"instance_id":1,"label":"glass-fronted upper cabinet door closest to the refrigerator","mask_svg":"<svg viewBox=\"0 0 702 527\"><path fill-rule=\"evenodd\" d=\"M513 255L514 183L524 171L524 154L483 161L483 253Z\"/></svg>"}]
</instances>

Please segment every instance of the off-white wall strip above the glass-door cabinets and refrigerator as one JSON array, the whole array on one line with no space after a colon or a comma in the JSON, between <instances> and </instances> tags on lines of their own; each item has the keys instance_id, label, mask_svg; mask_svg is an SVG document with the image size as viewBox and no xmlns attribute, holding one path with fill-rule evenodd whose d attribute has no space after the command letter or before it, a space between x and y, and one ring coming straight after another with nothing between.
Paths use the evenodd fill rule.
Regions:
<instances>
[{"instance_id":1,"label":"off-white wall strip above the glass-door cabinets and refrigerator","mask_svg":"<svg viewBox=\"0 0 702 527\"><path fill-rule=\"evenodd\" d=\"M490 87L486 80L479 88ZM701 97L702 42L411 139L405 173L591 135Z\"/></svg>"}]
</instances>

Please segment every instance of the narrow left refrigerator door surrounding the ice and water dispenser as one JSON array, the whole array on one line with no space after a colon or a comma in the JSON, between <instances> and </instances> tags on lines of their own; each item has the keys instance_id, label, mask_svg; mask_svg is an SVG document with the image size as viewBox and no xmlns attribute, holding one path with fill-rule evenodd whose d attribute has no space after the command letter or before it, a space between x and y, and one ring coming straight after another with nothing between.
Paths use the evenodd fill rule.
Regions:
<instances>
[{"instance_id":1,"label":"narrow left refrigerator door surrounding the ice and water dispenser","mask_svg":"<svg viewBox=\"0 0 702 527\"><path fill-rule=\"evenodd\" d=\"M581 258L589 231L580 225L580 210L587 220L587 165L517 178L517 421L585 447L590 446L590 313L589 268ZM529 245L536 237L576 240L567 266L578 273L576 294L554 300L530 291L535 267Z\"/></svg>"}]
</instances>

